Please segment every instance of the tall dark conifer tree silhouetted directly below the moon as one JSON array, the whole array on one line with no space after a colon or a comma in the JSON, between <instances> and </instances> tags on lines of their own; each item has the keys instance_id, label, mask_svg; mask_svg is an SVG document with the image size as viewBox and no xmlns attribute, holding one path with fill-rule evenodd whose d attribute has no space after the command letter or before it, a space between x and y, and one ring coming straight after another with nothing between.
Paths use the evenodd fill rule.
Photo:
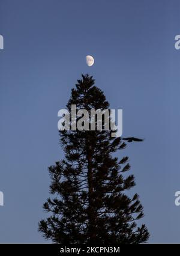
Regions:
<instances>
[{"instance_id":1,"label":"tall dark conifer tree silhouetted directly below the moon","mask_svg":"<svg viewBox=\"0 0 180 256\"><path fill-rule=\"evenodd\" d=\"M82 75L71 91L71 105L86 109L109 109L103 92L94 79ZM50 194L44 203L49 218L41 220L39 231L54 243L131 244L144 243L149 233L145 225L139 195L125 192L135 186L128 157L114 156L126 147L122 138L113 138L111 130L64 130L59 132L65 159L49 167Z\"/></svg>"}]
</instances>

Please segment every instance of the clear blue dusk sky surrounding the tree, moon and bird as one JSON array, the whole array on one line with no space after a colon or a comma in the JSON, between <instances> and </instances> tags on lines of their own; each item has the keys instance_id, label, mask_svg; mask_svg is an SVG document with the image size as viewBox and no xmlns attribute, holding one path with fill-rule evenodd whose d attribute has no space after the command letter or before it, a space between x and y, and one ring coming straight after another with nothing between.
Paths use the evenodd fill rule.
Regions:
<instances>
[{"instance_id":1,"label":"clear blue dusk sky surrounding the tree, moon and bird","mask_svg":"<svg viewBox=\"0 0 180 256\"><path fill-rule=\"evenodd\" d=\"M64 156L57 114L81 73L123 109L123 135L145 138L119 156L130 156L149 242L179 243L180 1L1 0L0 34L0 243L46 242L47 167Z\"/></svg>"}]
</instances>

